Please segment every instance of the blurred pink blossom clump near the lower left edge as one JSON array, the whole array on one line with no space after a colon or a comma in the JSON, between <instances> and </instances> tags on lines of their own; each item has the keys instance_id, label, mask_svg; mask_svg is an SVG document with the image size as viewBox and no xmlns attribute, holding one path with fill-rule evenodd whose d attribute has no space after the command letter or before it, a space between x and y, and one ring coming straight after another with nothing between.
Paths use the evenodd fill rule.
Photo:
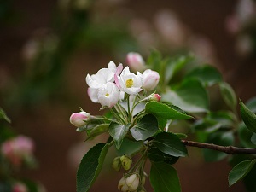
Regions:
<instances>
[{"instance_id":1,"label":"blurred pink blossom clump near the lower left edge","mask_svg":"<svg viewBox=\"0 0 256 192\"><path fill-rule=\"evenodd\" d=\"M32 160L34 143L29 137L18 136L7 140L1 146L3 156L14 166L21 166L23 162L29 163Z\"/></svg>"}]
</instances>

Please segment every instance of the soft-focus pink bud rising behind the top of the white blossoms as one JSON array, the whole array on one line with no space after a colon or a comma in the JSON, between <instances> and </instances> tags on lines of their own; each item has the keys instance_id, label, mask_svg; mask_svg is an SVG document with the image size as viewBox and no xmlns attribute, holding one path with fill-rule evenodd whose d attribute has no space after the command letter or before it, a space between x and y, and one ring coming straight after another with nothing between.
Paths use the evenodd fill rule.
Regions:
<instances>
[{"instance_id":1,"label":"soft-focus pink bud rising behind the top of the white blossoms","mask_svg":"<svg viewBox=\"0 0 256 192\"><path fill-rule=\"evenodd\" d=\"M126 56L126 61L131 70L134 72L142 72L145 69L145 61L143 60L142 55L138 53L128 53Z\"/></svg>"}]
</instances>

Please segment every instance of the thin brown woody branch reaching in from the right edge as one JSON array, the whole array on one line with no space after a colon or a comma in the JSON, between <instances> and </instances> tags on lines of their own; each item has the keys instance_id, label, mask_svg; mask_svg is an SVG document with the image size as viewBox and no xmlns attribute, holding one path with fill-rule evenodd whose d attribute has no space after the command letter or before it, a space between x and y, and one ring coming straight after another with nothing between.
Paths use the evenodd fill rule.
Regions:
<instances>
[{"instance_id":1,"label":"thin brown woody branch reaching in from the right edge","mask_svg":"<svg viewBox=\"0 0 256 192\"><path fill-rule=\"evenodd\" d=\"M234 146L220 146L212 143L198 143L187 140L182 140L187 146L196 148L208 148L216 151L221 151L226 154L256 154L256 148L236 148Z\"/></svg>"}]
</instances>

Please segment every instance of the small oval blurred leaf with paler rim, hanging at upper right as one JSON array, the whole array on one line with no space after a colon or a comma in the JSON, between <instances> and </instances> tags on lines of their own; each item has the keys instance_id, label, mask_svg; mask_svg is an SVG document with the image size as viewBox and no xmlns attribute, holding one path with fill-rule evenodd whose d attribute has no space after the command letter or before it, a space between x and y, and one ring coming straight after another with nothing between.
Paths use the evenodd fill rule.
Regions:
<instances>
[{"instance_id":1,"label":"small oval blurred leaf with paler rim, hanging at upper right","mask_svg":"<svg viewBox=\"0 0 256 192\"><path fill-rule=\"evenodd\" d=\"M237 98L236 93L230 84L222 82L219 84L221 95L224 99L224 102L232 109L236 109L237 105Z\"/></svg>"}]
</instances>

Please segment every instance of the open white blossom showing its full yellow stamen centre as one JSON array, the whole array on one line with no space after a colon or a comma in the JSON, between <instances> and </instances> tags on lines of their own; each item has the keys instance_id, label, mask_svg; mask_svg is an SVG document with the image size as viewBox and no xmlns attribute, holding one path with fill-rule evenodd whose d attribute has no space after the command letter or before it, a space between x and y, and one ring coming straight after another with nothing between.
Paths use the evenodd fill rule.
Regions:
<instances>
[{"instance_id":1,"label":"open white blossom showing its full yellow stamen centre","mask_svg":"<svg viewBox=\"0 0 256 192\"><path fill-rule=\"evenodd\" d=\"M125 93L136 95L140 92L143 85L143 75L137 72L137 75L131 73L129 67L125 67L123 72L119 77L116 77L116 84L120 90L125 91Z\"/></svg>"}]
</instances>

